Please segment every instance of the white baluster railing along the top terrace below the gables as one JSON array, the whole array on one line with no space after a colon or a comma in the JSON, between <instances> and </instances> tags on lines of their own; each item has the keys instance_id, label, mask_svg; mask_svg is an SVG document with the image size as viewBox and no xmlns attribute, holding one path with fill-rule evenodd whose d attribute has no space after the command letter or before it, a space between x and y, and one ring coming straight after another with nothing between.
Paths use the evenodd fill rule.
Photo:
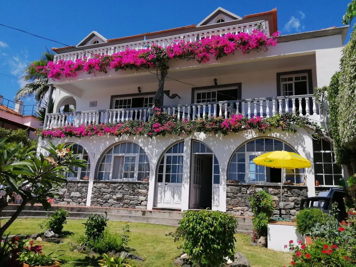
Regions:
<instances>
[{"instance_id":1,"label":"white baluster railing along the top terrace below the gables","mask_svg":"<svg viewBox=\"0 0 356 267\"><path fill-rule=\"evenodd\" d=\"M223 36L226 33L233 33L233 34L237 34L240 32L251 33L253 29L255 29L256 27L260 27L260 28L262 27L262 30L265 31L269 36L269 30L268 27L266 27L266 21L262 20L262 21L252 22L252 23L214 28L205 31L189 32L183 35L173 35L169 37L163 37L160 39L143 40L142 42L131 42L131 43L125 43L121 45L100 47L95 49L83 49L85 50L85 52L78 49L78 51L75 52L58 54L54 56L54 61L58 61L59 59L64 59L65 61L68 60L75 61L76 59L83 58L83 57L91 58L93 57L93 54L98 54L100 56L111 55L114 53L124 51L127 48L138 50L138 49L147 48L149 46L152 46L153 44L162 47L167 47L168 45L171 45L174 41L182 40L182 39L186 40L187 42L195 42L197 40L208 38L214 35Z\"/></svg>"}]
</instances>

